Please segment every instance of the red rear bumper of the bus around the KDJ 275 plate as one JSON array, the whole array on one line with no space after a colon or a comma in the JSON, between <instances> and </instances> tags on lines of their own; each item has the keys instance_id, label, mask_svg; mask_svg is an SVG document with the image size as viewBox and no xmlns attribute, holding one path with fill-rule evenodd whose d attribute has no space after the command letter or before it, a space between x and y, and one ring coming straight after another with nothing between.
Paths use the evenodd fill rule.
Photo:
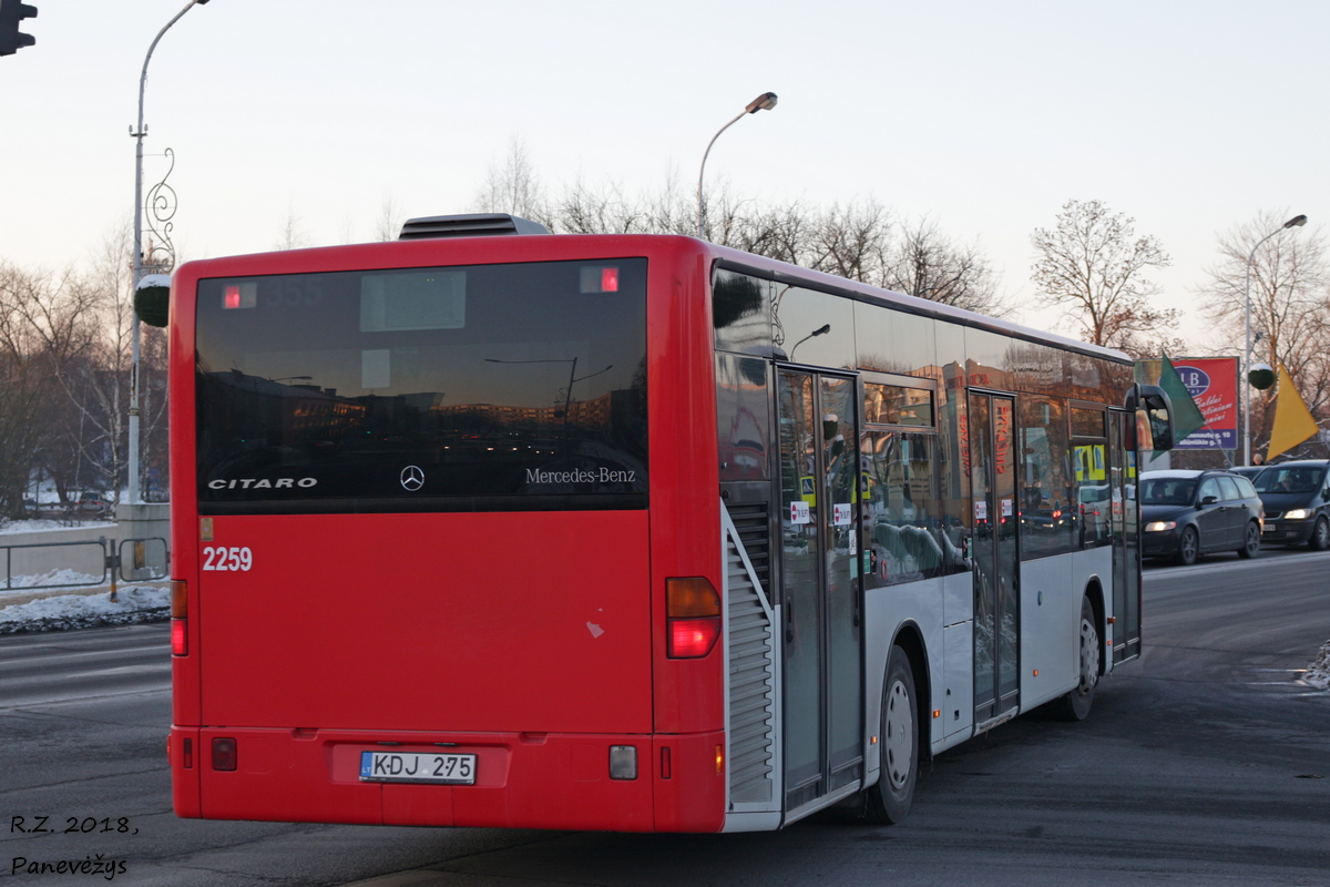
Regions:
<instances>
[{"instance_id":1,"label":"red rear bumper of the bus around the KDJ 275 plate","mask_svg":"<svg viewBox=\"0 0 1330 887\"><path fill-rule=\"evenodd\" d=\"M235 770L213 767L214 738L235 741ZM610 746L637 750L636 779L610 778ZM170 759L180 817L720 831L725 774L717 773L717 746L724 747L724 733L653 737L172 727ZM475 754L476 782L362 781L360 753L384 750Z\"/></svg>"}]
</instances>

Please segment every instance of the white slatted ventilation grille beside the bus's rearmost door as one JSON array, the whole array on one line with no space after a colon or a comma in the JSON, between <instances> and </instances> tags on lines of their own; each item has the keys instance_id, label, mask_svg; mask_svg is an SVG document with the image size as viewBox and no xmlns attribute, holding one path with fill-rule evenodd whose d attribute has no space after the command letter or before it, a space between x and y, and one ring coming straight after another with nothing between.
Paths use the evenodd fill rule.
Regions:
<instances>
[{"instance_id":1,"label":"white slatted ventilation grille beside the bus's rearmost door","mask_svg":"<svg viewBox=\"0 0 1330 887\"><path fill-rule=\"evenodd\" d=\"M747 555L751 560L751 551ZM771 620L729 535L725 557L730 622L730 801L766 802L771 801L775 747Z\"/></svg>"}]
</instances>

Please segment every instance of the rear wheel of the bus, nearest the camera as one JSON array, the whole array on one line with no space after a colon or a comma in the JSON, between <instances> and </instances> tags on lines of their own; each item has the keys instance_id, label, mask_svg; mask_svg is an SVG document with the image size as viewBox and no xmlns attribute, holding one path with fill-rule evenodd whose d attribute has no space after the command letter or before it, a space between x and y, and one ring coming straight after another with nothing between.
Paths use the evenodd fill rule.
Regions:
<instances>
[{"instance_id":1,"label":"rear wheel of the bus, nearest the camera","mask_svg":"<svg viewBox=\"0 0 1330 887\"><path fill-rule=\"evenodd\" d=\"M919 777L919 726L915 706L914 669L899 646L887 660L887 682L882 692L880 774L868 789L867 818L884 826L895 824L910 813L915 779Z\"/></svg>"}]
</instances>

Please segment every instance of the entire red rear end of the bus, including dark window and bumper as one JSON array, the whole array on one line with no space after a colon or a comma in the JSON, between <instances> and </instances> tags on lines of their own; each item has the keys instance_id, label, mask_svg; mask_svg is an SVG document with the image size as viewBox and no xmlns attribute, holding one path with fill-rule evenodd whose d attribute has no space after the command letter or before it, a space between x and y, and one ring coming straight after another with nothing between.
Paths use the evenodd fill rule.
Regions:
<instances>
[{"instance_id":1,"label":"entire red rear end of the bus, including dark window and bumper","mask_svg":"<svg viewBox=\"0 0 1330 887\"><path fill-rule=\"evenodd\" d=\"M180 269L177 814L721 828L705 250Z\"/></svg>"}]
</instances>

